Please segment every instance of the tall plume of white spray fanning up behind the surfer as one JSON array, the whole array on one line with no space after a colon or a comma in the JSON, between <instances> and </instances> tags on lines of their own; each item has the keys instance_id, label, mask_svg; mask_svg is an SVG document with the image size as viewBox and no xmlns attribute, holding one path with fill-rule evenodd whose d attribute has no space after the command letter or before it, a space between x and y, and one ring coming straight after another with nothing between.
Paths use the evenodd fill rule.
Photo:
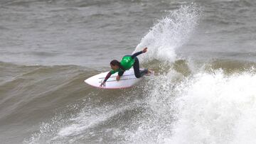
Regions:
<instances>
[{"instance_id":1,"label":"tall plume of white spray fanning up behind the surfer","mask_svg":"<svg viewBox=\"0 0 256 144\"><path fill-rule=\"evenodd\" d=\"M201 15L201 7L196 4L181 6L174 11L167 11L164 18L157 21L134 52L149 48L146 55L141 55L142 61L161 60L174 62L175 50L181 47L191 36Z\"/></svg>"}]
</instances>

